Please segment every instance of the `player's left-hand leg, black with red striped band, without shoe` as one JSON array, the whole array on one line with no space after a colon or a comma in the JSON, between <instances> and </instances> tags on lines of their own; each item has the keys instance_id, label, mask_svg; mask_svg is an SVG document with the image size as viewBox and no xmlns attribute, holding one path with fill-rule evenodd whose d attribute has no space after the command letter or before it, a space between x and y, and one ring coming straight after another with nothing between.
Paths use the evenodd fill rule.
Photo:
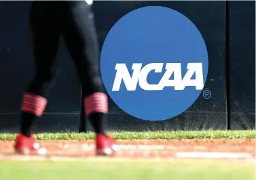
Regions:
<instances>
[{"instance_id":1,"label":"player's left-hand leg, black with red striped band, without shoe","mask_svg":"<svg viewBox=\"0 0 256 180\"><path fill-rule=\"evenodd\" d=\"M31 9L31 40L36 71L21 107L20 133L27 137L31 136L33 121L43 114L47 104L45 95L54 78L58 36L54 17L43 7L43 1L35 1Z\"/></svg>"}]
</instances>

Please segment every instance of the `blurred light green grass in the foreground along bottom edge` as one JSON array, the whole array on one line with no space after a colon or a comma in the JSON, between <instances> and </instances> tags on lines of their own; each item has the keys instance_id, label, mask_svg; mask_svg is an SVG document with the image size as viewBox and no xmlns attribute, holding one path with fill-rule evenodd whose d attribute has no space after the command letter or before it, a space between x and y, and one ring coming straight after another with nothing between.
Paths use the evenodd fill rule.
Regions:
<instances>
[{"instance_id":1,"label":"blurred light green grass in the foreground along bottom edge","mask_svg":"<svg viewBox=\"0 0 256 180\"><path fill-rule=\"evenodd\" d=\"M4 180L253 180L255 164L190 161L1 161Z\"/></svg>"}]
</instances>

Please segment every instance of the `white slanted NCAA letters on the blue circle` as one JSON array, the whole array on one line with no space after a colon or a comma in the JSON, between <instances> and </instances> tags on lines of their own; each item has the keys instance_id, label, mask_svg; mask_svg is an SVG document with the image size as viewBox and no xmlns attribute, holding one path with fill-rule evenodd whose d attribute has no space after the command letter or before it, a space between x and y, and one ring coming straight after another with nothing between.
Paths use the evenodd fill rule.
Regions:
<instances>
[{"instance_id":1,"label":"white slanted NCAA letters on the blue circle","mask_svg":"<svg viewBox=\"0 0 256 180\"><path fill-rule=\"evenodd\" d=\"M164 63L151 63L147 64L144 68L141 63L132 64L132 76L128 71L126 64L115 64L115 81L113 83L112 91L120 91L122 80L126 86L127 91L135 91L137 84L145 91L161 91L164 87L175 87L175 90L182 91L187 86L194 86L196 90L202 90L204 87L202 63L188 63L187 72L182 78L181 63L166 63L166 72L162 76L158 84L152 85L147 83L147 75L151 70L155 73L162 72ZM170 76L174 75L174 79ZM195 79L191 79L193 74L196 75Z\"/></svg>"}]
</instances>

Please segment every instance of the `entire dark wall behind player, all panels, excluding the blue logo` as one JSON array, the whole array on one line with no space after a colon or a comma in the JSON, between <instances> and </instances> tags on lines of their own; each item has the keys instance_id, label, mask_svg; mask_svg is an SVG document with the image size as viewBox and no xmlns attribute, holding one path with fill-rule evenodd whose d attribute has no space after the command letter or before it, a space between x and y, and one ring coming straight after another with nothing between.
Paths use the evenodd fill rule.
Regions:
<instances>
[{"instance_id":1,"label":"entire dark wall behind player, all panels, excluding the blue logo","mask_svg":"<svg viewBox=\"0 0 256 180\"><path fill-rule=\"evenodd\" d=\"M30 1L0 1L0 132L18 131L22 93L33 78L29 39ZM149 122L129 116L109 103L109 130L227 129L225 92L226 43L230 45L232 129L255 127L255 2L230 2L230 41L225 42L225 1L95 1L94 14L100 45L107 32L133 9L162 5L181 12L200 30L208 49L209 70L205 89L186 112L171 120ZM64 43L58 52L56 83L46 113L35 132L78 131L80 85ZM89 128L91 129L91 127Z\"/></svg>"}]
</instances>

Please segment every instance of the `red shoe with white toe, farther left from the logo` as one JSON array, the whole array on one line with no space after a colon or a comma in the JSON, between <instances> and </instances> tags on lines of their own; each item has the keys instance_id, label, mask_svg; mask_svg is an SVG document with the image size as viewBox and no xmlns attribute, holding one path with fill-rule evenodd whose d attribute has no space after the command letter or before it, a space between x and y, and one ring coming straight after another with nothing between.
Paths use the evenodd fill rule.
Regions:
<instances>
[{"instance_id":1,"label":"red shoe with white toe, farther left from the logo","mask_svg":"<svg viewBox=\"0 0 256 180\"><path fill-rule=\"evenodd\" d=\"M42 148L41 145L36 141L35 137L26 137L22 134L18 134L14 149L17 154L46 154L46 149Z\"/></svg>"}]
</instances>

